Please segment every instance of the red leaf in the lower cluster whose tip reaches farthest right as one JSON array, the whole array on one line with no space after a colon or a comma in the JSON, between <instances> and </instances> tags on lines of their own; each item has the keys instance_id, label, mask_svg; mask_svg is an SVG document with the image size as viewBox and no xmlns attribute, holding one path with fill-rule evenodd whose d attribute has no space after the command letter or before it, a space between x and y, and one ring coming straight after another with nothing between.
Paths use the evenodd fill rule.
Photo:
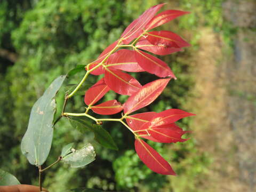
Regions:
<instances>
[{"instance_id":1,"label":"red leaf in the lower cluster whose tip reaches farthest right","mask_svg":"<svg viewBox=\"0 0 256 192\"><path fill-rule=\"evenodd\" d=\"M158 113L153 119L151 119L150 127L162 126L178 121L183 117L193 116L195 114L188 113L180 109L167 109Z\"/></svg>"}]
</instances>

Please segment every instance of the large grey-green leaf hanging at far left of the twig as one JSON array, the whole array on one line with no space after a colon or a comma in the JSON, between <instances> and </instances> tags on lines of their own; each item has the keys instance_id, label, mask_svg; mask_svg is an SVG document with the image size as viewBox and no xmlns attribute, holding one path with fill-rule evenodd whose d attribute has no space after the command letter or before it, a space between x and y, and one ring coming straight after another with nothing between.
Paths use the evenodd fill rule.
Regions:
<instances>
[{"instance_id":1,"label":"large grey-green leaf hanging at far left of the twig","mask_svg":"<svg viewBox=\"0 0 256 192\"><path fill-rule=\"evenodd\" d=\"M56 111L55 94L65 78L56 78L31 109L28 129L21 141L21 151L32 165L42 165L49 155Z\"/></svg>"}]
</instances>

